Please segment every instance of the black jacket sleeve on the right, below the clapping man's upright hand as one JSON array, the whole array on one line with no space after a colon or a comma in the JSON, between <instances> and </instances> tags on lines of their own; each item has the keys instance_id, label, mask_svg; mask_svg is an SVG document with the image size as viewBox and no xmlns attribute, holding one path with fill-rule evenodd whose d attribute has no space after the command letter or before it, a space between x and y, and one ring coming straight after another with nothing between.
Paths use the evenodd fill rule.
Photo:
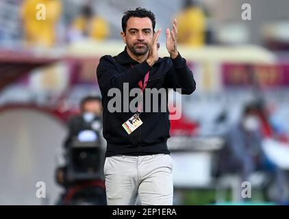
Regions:
<instances>
[{"instance_id":1,"label":"black jacket sleeve on the right, below the clapping man's upright hand","mask_svg":"<svg viewBox=\"0 0 289 219\"><path fill-rule=\"evenodd\" d=\"M170 59L173 67L166 74L166 88L172 88L176 91L181 88L181 94L192 94L196 90L196 81L192 71L186 65L186 60L177 55L175 59Z\"/></svg>"}]
</instances>

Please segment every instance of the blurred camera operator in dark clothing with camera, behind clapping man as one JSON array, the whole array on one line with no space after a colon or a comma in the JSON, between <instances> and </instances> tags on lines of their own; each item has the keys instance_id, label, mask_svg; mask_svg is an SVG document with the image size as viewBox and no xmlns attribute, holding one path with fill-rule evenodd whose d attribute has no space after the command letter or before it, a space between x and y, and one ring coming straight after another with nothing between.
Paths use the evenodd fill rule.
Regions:
<instances>
[{"instance_id":1,"label":"blurred camera operator in dark clothing with camera, behind clapping man","mask_svg":"<svg viewBox=\"0 0 289 219\"><path fill-rule=\"evenodd\" d=\"M64 187L58 205L106 205L103 176L104 149L102 105L99 96L86 96L80 102L81 114L68 120L64 141L65 164L55 170L55 179Z\"/></svg>"}]
</instances>

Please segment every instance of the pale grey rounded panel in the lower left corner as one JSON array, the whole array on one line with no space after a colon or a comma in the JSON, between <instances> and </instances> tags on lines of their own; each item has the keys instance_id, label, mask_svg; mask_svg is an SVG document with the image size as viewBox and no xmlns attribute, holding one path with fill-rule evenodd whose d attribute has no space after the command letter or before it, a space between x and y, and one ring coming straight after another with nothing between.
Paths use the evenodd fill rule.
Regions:
<instances>
[{"instance_id":1,"label":"pale grey rounded panel in the lower left corner","mask_svg":"<svg viewBox=\"0 0 289 219\"><path fill-rule=\"evenodd\" d=\"M61 190L54 181L55 151L65 127L35 110L0 114L0 205L53 205ZM46 184L46 198L36 198L36 183Z\"/></svg>"}]
</instances>

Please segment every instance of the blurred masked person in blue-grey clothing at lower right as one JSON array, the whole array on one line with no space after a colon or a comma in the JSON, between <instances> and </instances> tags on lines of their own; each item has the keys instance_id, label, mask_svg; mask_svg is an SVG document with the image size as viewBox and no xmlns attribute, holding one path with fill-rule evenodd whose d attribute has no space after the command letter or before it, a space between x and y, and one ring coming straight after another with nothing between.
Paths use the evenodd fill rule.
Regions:
<instances>
[{"instance_id":1,"label":"blurred masked person in blue-grey clothing at lower right","mask_svg":"<svg viewBox=\"0 0 289 219\"><path fill-rule=\"evenodd\" d=\"M221 174L233 172L240 174L242 181L249 181L252 172L261 170L273 175L278 194L275 201L286 201L286 177L283 170L273 163L262 148L260 111L255 103L244 108L238 124L230 129L221 155Z\"/></svg>"}]
</instances>

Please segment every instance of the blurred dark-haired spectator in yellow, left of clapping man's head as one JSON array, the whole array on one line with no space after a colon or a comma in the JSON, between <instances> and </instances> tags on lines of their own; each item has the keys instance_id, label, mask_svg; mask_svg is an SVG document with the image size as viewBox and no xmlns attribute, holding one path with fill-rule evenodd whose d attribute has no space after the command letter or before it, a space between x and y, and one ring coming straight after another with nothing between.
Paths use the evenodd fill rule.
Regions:
<instances>
[{"instance_id":1,"label":"blurred dark-haired spectator in yellow, left of clapping man's head","mask_svg":"<svg viewBox=\"0 0 289 219\"><path fill-rule=\"evenodd\" d=\"M86 4L82 6L80 15L73 21L68 37L71 41L79 38L103 40L109 34L109 25L105 19L95 15L92 6Z\"/></svg>"}]
</instances>

